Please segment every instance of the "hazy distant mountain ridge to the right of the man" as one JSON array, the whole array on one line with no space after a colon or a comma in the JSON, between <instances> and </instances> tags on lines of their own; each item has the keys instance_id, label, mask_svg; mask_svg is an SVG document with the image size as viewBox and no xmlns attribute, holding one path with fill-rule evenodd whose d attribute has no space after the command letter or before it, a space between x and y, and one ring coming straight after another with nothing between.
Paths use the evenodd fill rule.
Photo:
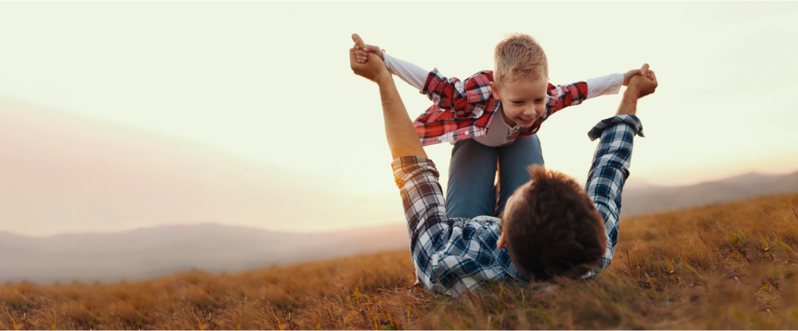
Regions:
<instances>
[{"instance_id":1,"label":"hazy distant mountain ridge to the right of the man","mask_svg":"<svg viewBox=\"0 0 798 331\"><path fill-rule=\"evenodd\" d=\"M638 184L623 190L621 216L788 192L798 192L798 172L784 175L745 173L720 181L677 187Z\"/></svg>"}]
</instances>

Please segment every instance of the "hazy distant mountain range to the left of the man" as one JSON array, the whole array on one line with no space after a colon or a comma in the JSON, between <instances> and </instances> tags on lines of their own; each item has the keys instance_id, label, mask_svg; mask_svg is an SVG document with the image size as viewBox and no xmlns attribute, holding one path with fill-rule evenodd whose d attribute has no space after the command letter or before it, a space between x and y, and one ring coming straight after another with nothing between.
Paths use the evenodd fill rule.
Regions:
<instances>
[{"instance_id":1,"label":"hazy distant mountain range to the left of the man","mask_svg":"<svg viewBox=\"0 0 798 331\"><path fill-rule=\"evenodd\" d=\"M403 247L409 247L403 224L333 233L215 224L51 237L0 232L0 281L114 282L188 269L236 272Z\"/></svg>"}]
</instances>

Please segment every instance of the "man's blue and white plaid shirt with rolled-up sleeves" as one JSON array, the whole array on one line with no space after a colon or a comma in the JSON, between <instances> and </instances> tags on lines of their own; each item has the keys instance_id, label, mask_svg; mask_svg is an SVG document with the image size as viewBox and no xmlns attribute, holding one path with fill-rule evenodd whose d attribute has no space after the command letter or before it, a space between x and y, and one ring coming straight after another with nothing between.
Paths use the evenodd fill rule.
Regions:
<instances>
[{"instance_id":1,"label":"man's blue and white plaid shirt with rolled-up sleeves","mask_svg":"<svg viewBox=\"0 0 798 331\"><path fill-rule=\"evenodd\" d=\"M607 118L587 133L591 141L601 138L586 185L587 195L604 217L606 228L601 270L610 265L618 242L621 189L629 177L635 134L643 137L640 120L634 115ZM483 281L529 283L512 264L507 249L496 248L499 218L449 218L438 170L429 159L402 157L391 165L405 205L417 281L450 295L474 289ZM599 272L591 271L584 278L595 277Z\"/></svg>"}]
</instances>

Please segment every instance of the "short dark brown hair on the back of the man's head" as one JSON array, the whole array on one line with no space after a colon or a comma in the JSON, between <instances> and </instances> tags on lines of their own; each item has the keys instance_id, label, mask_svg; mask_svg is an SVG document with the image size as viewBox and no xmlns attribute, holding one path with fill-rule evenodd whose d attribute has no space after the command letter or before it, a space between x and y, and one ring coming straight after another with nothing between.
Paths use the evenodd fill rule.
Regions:
<instances>
[{"instance_id":1,"label":"short dark brown hair on the back of the man's head","mask_svg":"<svg viewBox=\"0 0 798 331\"><path fill-rule=\"evenodd\" d=\"M504 240L523 277L580 277L605 252L604 220L571 177L543 166L529 168L532 183L504 215Z\"/></svg>"}]
</instances>

